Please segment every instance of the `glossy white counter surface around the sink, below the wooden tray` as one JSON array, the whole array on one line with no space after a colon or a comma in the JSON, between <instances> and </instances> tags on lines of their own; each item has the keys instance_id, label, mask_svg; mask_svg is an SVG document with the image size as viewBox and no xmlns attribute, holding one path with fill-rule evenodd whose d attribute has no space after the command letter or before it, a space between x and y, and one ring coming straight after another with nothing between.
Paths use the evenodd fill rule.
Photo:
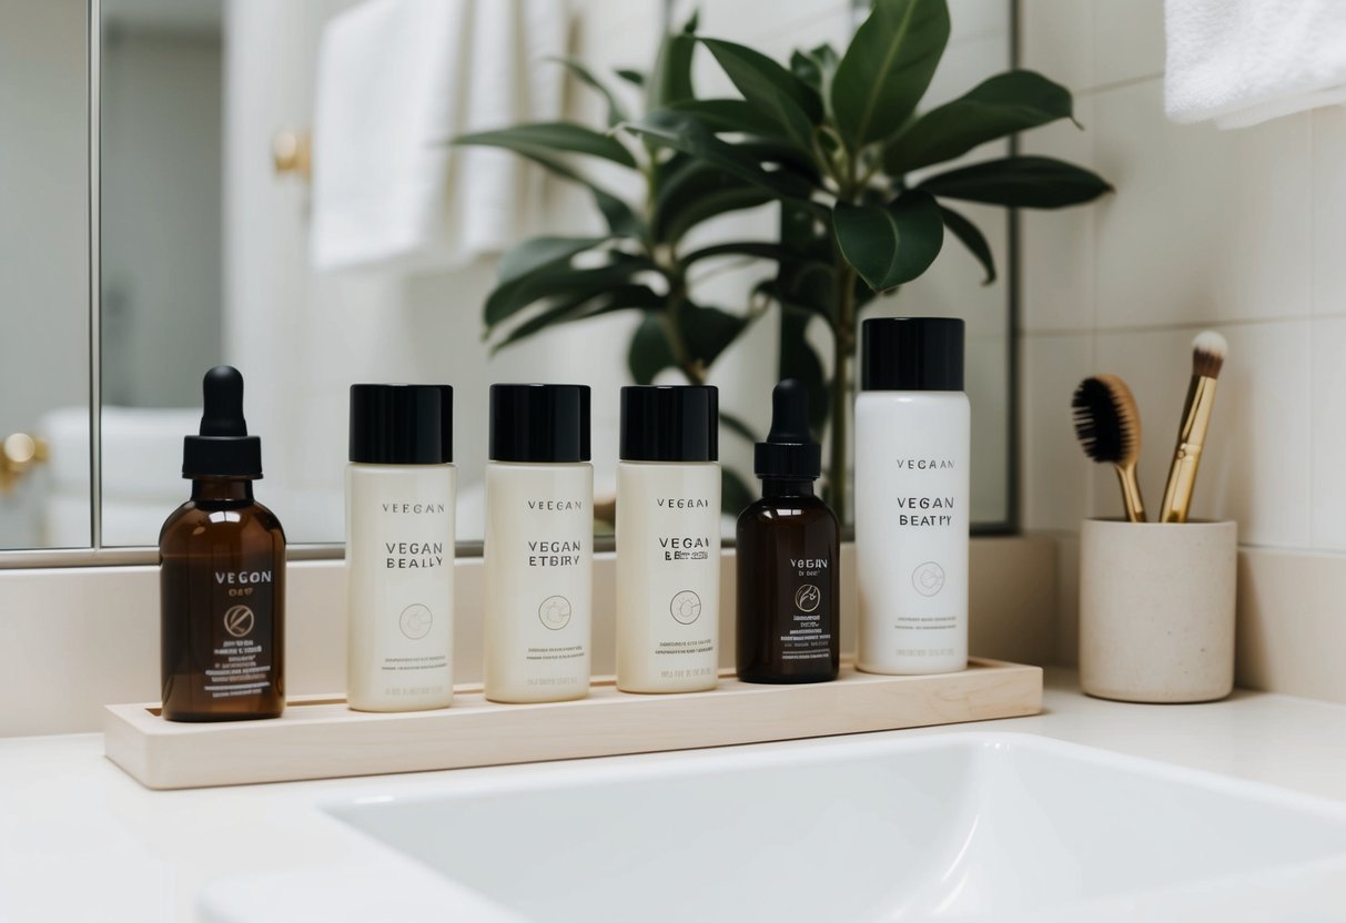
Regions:
<instances>
[{"instance_id":1,"label":"glossy white counter surface around the sink, below the wooden tray","mask_svg":"<svg viewBox=\"0 0 1346 923\"><path fill-rule=\"evenodd\" d=\"M1346 705L1236 692L1206 705L1092 700L1049 670L1044 713L887 735L1016 732L1265 782L1346 802ZM756 744L826 747L828 739ZM696 760L696 751L607 758ZM415 776L537 776L549 764ZM315 807L336 792L378 795L406 776L149 791L102 756L101 735L0 740L0 920L199 919L198 891L219 879L336 869L367 841ZM386 907L389 912L396 908Z\"/></svg>"}]
</instances>

